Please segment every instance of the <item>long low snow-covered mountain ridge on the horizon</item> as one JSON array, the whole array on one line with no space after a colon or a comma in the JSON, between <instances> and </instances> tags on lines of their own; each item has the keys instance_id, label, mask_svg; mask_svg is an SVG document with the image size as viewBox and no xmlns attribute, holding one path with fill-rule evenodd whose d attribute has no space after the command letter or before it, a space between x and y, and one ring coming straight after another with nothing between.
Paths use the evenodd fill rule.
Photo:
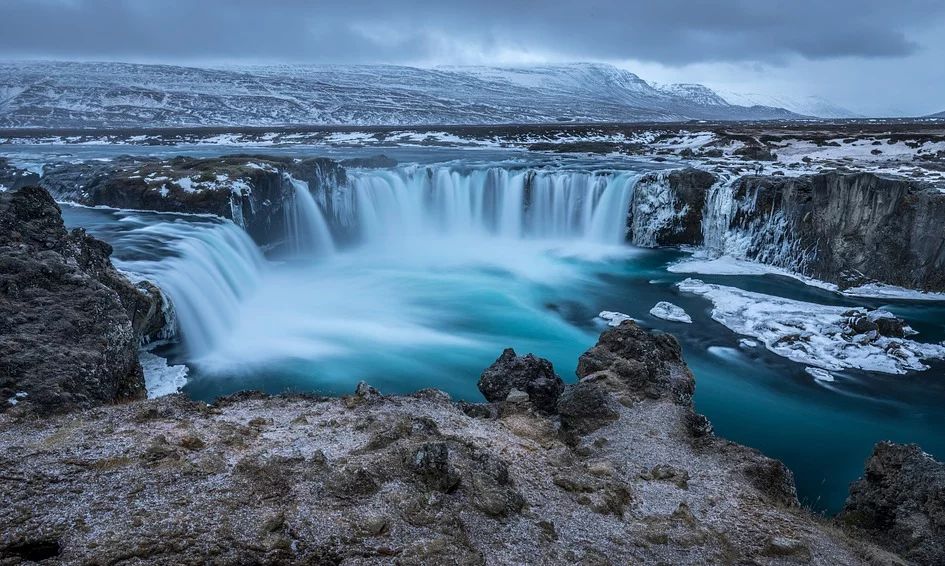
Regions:
<instances>
[{"instance_id":1,"label":"long low snow-covered mountain ridge on the horizon","mask_svg":"<svg viewBox=\"0 0 945 566\"><path fill-rule=\"evenodd\" d=\"M0 63L0 127L446 125L767 120L702 85L656 88L610 65L524 68Z\"/></svg>"}]
</instances>

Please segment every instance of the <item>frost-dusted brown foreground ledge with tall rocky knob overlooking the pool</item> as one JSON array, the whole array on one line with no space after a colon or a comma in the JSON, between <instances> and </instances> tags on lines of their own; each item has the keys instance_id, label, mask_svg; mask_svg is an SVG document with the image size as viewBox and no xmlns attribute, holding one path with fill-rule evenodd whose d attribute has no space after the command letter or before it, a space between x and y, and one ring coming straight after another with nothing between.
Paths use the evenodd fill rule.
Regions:
<instances>
[{"instance_id":1,"label":"frost-dusted brown foreground ledge with tall rocky knob overlooking the pool","mask_svg":"<svg viewBox=\"0 0 945 566\"><path fill-rule=\"evenodd\" d=\"M366 384L8 411L0 560L899 563L799 507L782 464L712 435L672 337L625 322L581 367L552 414Z\"/></svg>"}]
</instances>

